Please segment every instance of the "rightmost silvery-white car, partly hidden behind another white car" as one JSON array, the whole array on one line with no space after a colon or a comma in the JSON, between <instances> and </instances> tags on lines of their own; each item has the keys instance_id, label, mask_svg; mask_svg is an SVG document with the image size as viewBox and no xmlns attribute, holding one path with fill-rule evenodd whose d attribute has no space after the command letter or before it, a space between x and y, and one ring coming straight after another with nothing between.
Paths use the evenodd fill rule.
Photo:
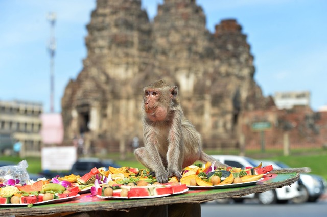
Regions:
<instances>
[{"instance_id":1,"label":"rightmost silvery-white car, partly hidden behind another white car","mask_svg":"<svg viewBox=\"0 0 327 217\"><path fill-rule=\"evenodd\" d=\"M272 165L273 168L290 168L283 162L267 160L263 160L261 162L263 166ZM315 202L325 192L326 180L324 180L324 178L321 176L308 173L301 173L298 183L300 185L301 196L293 198L292 201L294 203L303 203L307 201Z\"/></svg>"}]
</instances>

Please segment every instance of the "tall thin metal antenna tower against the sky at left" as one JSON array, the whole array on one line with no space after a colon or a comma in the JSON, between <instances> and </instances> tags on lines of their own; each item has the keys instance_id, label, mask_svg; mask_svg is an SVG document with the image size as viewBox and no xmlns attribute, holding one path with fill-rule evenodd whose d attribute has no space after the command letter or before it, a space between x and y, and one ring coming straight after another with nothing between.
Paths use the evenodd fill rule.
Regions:
<instances>
[{"instance_id":1,"label":"tall thin metal antenna tower against the sky at left","mask_svg":"<svg viewBox=\"0 0 327 217\"><path fill-rule=\"evenodd\" d=\"M54 112L54 59L56 52L56 39L55 39L55 24L56 24L56 14L49 13L46 17L50 22L50 41L48 45L48 50L50 53L50 112Z\"/></svg>"}]
</instances>

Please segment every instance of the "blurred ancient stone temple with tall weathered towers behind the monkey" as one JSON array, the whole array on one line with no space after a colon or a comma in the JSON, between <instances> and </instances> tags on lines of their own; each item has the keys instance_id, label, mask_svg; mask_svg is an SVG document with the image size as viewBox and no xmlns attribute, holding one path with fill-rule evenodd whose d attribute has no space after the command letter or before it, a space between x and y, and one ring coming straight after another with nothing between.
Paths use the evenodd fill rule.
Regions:
<instances>
[{"instance_id":1,"label":"blurred ancient stone temple with tall weathered towers behind the monkey","mask_svg":"<svg viewBox=\"0 0 327 217\"><path fill-rule=\"evenodd\" d=\"M205 148L237 146L242 111L269 104L256 85L253 56L236 20L215 33L194 0L166 0L149 21L140 0L98 0L87 25L87 57L62 98L64 140L83 136L94 152L143 145L142 89L164 78L179 86L185 116Z\"/></svg>"}]
</instances>

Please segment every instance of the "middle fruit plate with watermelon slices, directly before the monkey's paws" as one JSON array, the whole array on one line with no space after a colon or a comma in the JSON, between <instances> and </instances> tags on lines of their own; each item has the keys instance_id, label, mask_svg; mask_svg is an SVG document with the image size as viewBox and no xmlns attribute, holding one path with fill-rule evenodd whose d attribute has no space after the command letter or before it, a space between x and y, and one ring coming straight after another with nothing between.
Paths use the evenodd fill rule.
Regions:
<instances>
[{"instance_id":1,"label":"middle fruit plate with watermelon slices, directly before the monkey's paws","mask_svg":"<svg viewBox=\"0 0 327 217\"><path fill-rule=\"evenodd\" d=\"M92 196L101 199L165 197L188 191L186 185L179 183L176 177L171 178L169 183L160 184L149 174L147 169L109 167L108 170L93 168L82 177L76 176L76 179L74 174L58 179L71 181L80 188L79 193L89 190Z\"/></svg>"}]
</instances>

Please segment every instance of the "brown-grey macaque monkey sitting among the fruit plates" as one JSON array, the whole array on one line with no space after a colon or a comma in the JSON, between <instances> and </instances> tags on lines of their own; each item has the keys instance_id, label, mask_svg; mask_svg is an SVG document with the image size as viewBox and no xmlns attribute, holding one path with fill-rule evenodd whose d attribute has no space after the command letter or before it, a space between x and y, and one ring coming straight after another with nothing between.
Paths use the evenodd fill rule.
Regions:
<instances>
[{"instance_id":1,"label":"brown-grey macaque monkey sitting among the fruit plates","mask_svg":"<svg viewBox=\"0 0 327 217\"><path fill-rule=\"evenodd\" d=\"M197 160L217 161L202 151L201 135L185 118L177 95L177 86L164 80L157 80L143 92L144 147L134 154L160 183L167 183L172 176L180 179L182 169ZM215 166L227 167L218 161Z\"/></svg>"}]
</instances>

